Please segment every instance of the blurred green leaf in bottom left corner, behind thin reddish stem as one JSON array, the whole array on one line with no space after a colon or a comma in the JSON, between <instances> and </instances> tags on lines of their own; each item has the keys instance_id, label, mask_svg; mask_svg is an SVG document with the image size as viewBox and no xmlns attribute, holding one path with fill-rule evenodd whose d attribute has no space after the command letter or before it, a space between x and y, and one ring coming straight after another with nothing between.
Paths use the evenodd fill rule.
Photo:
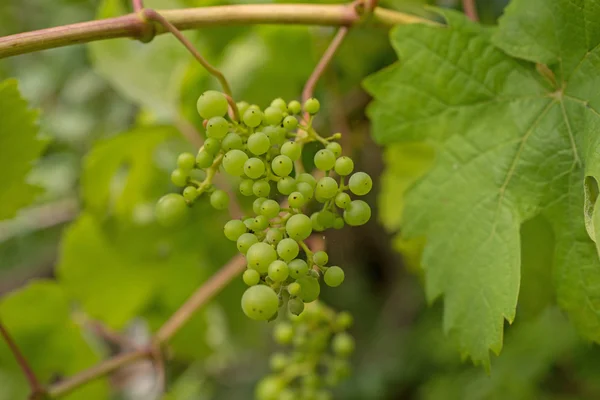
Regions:
<instances>
[{"instance_id":1,"label":"blurred green leaf in bottom left corner, behind thin reddish stem","mask_svg":"<svg viewBox=\"0 0 600 400\"><path fill-rule=\"evenodd\" d=\"M51 281L37 281L9 294L0 302L0 320L9 331L38 379L72 375L99 361L70 318L70 304L63 289ZM0 341L0 372L11 376L0 399L25 398L23 374L4 341ZM108 398L108 385L98 380L65 397L70 400Z\"/></svg>"}]
</instances>

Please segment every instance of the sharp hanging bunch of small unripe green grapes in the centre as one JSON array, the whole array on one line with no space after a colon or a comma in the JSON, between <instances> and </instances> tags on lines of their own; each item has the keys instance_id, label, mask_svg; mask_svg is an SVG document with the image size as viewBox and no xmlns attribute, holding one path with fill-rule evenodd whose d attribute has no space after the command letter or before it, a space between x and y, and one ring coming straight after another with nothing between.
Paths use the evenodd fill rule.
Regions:
<instances>
[{"instance_id":1,"label":"sharp hanging bunch of small unripe green grapes in the centre","mask_svg":"<svg viewBox=\"0 0 600 400\"><path fill-rule=\"evenodd\" d=\"M314 129L317 99L303 105L275 99L264 110L245 102L233 108L224 94L207 91L197 107L207 139L195 157L178 157L171 180L183 193L159 200L157 220L180 223L202 194L210 196L214 208L227 208L229 196L215 188L213 178L220 169L238 178L240 194L254 198L252 213L227 222L224 234L247 261L243 280L249 288L242 309L252 319L272 320L288 299L288 310L299 315L305 303L319 297L320 280L331 287L344 280L344 271L328 265L327 253L313 252L307 239L313 232L365 224L371 217L369 205L349 193L369 193L371 177L354 172L352 159L342 155L336 141L341 134L323 137ZM322 145L314 155L313 175L302 172L302 151L309 142ZM195 178L199 173L201 181Z\"/></svg>"}]
</instances>

